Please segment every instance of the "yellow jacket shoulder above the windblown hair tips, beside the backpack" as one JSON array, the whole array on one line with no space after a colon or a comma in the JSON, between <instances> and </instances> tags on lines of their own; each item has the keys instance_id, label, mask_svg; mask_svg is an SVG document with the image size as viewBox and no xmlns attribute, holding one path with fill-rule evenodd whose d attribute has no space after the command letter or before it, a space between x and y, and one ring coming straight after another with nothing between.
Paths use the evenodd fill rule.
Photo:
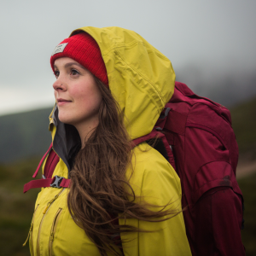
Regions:
<instances>
[{"instance_id":1,"label":"yellow jacket shoulder above the windblown hair tips, beside the backpack","mask_svg":"<svg viewBox=\"0 0 256 256\"><path fill-rule=\"evenodd\" d=\"M129 182L139 195L151 197L150 202L161 204L174 195L181 196L181 185L177 173L170 163L148 143L134 149L133 173ZM171 195L171 197L170 197ZM158 199L157 199L158 198Z\"/></svg>"}]
</instances>

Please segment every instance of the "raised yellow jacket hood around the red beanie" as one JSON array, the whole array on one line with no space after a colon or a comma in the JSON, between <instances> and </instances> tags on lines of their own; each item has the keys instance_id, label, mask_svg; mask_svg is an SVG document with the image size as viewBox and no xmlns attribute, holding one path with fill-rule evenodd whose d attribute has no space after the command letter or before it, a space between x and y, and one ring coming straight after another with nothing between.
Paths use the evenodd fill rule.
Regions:
<instances>
[{"instance_id":1,"label":"raised yellow jacket hood around the red beanie","mask_svg":"<svg viewBox=\"0 0 256 256\"><path fill-rule=\"evenodd\" d=\"M81 31L89 33L101 49L109 89L125 114L131 139L148 134L174 91L171 61L136 32L116 26L84 26L70 36ZM51 122L54 116L57 119L56 112Z\"/></svg>"}]
</instances>

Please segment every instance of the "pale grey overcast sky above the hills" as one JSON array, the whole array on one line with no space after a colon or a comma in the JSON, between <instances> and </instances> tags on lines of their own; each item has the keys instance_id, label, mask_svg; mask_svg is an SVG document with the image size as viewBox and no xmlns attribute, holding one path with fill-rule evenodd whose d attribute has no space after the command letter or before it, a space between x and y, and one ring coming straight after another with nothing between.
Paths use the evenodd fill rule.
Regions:
<instances>
[{"instance_id":1,"label":"pale grey overcast sky above the hills","mask_svg":"<svg viewBox=\"0 0 256 256\"><path fill-rule=\"evenodd\" d=\"M1 0L0 115L54 104L49 57L81 26L141 34L174 70L256 71L255 1Z\"/></svg>"}]
</instances>

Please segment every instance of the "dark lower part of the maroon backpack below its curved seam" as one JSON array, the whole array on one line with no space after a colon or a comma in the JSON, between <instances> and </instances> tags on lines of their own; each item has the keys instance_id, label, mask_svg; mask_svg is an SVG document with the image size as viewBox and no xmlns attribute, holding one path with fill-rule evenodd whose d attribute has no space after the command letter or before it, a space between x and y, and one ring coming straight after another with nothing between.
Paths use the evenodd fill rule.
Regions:
<instances>
[{"instance_id":1,"label":"dark lower part of the maroon backpack below its curved seam","mask_svg":"<svg viewBox=\"0 0 256 256\"><path fill-rule=\"evenodd\" d=\"M241 199L230 187L210 189L195 204L195 251L203 256L245 255Z\"/></svg>"}]
</instances>

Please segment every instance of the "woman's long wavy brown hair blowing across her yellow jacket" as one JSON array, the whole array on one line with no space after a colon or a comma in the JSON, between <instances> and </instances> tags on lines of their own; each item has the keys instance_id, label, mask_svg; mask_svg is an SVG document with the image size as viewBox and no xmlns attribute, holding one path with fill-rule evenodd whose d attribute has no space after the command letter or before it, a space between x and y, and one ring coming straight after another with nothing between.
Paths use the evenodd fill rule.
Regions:
<instances>
[{"instance_id":1,"label":"woman's long wavy brown hair blowing across her yellow jacket","mask_svg":"<svg viewBox=\"0 0 256 256\"><path fill-rule=\"evenodd\" d=\"M125 177L127 168L132 168L132 146L125 130L124 117L107 86L99 79L96 79L96 84L102 93L99 125L90 133L84 148L75 158L70 172L67 206L75 223L94 241L101 255L105 256L107 252L118 255L111 238L113 234L148 230L119 225L114 220L137 218L163 221L179 211L166 210L165 207L152 211L147 203L135 202L136 196ZM166 218L160 218L164 216Z\"/></svg>"}]
</instances>

